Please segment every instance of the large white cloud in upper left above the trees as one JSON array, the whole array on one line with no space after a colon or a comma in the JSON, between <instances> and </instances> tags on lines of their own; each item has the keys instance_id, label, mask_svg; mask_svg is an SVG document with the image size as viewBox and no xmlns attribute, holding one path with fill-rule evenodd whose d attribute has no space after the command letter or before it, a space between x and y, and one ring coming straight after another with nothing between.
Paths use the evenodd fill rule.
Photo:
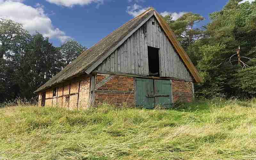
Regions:
<instances>
[{"instance_id":1,"label":"large white cloud in upper left above the trees","mask_svg":"<svg viewBox=\"0 0 256 160\"><path fill-rule=\"evenodd\" d=\"M33 34L35 31L40 32L43 36L49 38L58 38L64 42L69 36L55 28L52 25L51 19L44 12L44 6L36 4L36 8L25 5L13 0L2 1L0 0L0 16L5 19L11 19L15 22L22 23L23 28Z\"/></svg>"}]
</instances>

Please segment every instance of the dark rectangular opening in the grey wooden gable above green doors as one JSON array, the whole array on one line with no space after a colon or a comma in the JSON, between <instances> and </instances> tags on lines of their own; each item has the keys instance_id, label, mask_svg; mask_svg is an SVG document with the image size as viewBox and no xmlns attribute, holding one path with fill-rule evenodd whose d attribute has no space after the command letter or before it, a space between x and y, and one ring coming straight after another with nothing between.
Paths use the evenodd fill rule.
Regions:
<instances>
[{"instance_id":1,"label":"dark rectangular opening in the grey wooden gable above green doors","mask_svg":"<svg viewBox=\"0 0 256 160\"><path fill-rule=\"evenodd\" d=\"M159 49L148 46L149 76L159 76Z\"/></svg>"}]
</instances>

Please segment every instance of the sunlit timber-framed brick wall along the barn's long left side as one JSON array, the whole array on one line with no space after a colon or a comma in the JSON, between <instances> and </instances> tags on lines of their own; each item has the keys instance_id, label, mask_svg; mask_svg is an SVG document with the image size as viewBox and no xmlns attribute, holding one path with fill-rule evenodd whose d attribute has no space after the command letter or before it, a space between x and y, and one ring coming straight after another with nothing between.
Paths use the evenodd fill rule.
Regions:
<instances>
[{"instance_id":1,"label":"sunlit timber-framed brick wall along the barn's long left side","mask_svg":"<svg viewBox=\"0 0 256 160\"><path fill-rule=\"evenodd\" d=\"M52 87L46 90L45 106L77 108L79 82L80 82L80 92L79 92L78 107L87 108L89 93L90 93L90 77L76 78L69 82L55 86L57 87L57 92L55 97L52 97L53 89L55 87ZM69 86L70 86L70 96L69 96ZM41 100L40 96L41 96L41 93L39 93L39 100ZM39 105L41 105L41 102L39 102Z\"/></svg>"}]
</instances>

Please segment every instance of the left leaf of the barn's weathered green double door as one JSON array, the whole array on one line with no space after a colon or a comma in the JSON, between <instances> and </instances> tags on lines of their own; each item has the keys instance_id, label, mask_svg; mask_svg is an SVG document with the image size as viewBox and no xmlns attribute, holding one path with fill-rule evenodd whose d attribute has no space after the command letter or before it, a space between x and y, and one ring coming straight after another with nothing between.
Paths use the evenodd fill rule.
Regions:
<instances>
[{"instance_id":1,"label":"left leaf of the barn's weathered green double door","mask_svg":"<svg viewBox=\"0 0 256 160\"><path fill-rule=\"evenodd\" d=\"M154 98L148 95L154 94L154 80L136 78L136 105L144 108L154 108Z\"/></svg>"}]
</instances>

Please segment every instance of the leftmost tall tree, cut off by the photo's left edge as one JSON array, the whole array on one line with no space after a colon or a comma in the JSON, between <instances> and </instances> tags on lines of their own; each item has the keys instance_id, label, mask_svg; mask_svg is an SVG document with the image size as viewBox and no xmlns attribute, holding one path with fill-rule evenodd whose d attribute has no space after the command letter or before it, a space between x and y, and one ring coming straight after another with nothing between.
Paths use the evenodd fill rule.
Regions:
<instances>
[{"instance_id":1,"label":"leftmost tall tree, cut off by the photo's left edge","mask_svg":"<svg viewBox=\"0 0 256 160\"><path fill-rule=\"evenodd\" d=\"M22 24L0 19L0 102L19 94L14 77L29 39L30 35L22 28Z\"/></svg>"}]
</instances>

